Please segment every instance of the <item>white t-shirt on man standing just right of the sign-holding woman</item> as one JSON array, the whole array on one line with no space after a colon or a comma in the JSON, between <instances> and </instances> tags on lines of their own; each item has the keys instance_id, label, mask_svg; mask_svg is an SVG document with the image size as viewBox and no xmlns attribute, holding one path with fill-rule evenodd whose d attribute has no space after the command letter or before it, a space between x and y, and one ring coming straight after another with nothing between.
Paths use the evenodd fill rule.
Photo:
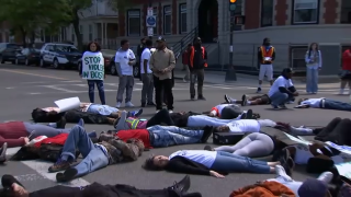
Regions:
<instances>
[{"instance_id":1,"label":"white t-shirt on man standing just right of the sign-holding woman","mask_svg":"<svg viewBox=\"0 0 351 197\"><path fill-rule=\"evenodd\" d=\"M133 50L118 49L116 51L114 62L120 63L121 72L123 76L133 76L133 66L128 65L128 62L131 60L135 60L135 55L134 55Z\"/></svg>"}]
</instances>

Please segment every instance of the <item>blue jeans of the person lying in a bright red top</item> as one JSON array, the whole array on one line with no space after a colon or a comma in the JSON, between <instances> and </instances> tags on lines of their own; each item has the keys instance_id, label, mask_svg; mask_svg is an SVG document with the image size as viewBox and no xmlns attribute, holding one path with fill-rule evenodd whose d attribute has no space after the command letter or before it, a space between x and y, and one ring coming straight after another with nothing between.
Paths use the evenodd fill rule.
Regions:
<instances>
[{"instance_id":1,"label":"blue jeans of the person lying in a bright red top","mask_svg":"<svg viewBox=\"0 0 351 197\"><path fill-rule=\"evenodd\" d=\"M147 128L154 134L152 147L161 148L176 144L199 143L204 134L203 130L186 130L176 126L152 126Z\"/></svg>"}]
</instances>

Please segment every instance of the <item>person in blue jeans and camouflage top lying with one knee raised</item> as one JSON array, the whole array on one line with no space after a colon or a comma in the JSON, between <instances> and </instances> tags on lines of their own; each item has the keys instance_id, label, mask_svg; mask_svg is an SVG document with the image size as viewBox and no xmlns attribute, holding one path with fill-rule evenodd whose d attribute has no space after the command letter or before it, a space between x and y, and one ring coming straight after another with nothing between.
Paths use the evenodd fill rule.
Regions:
<instances>
[{"instance_id":1,"label":"person in blue jeans and camouflage top lying with one knee raised","mask_svg":"<svg viewBox=\"0 0 351 197\"><path fill-rule=\"evenodd\" d=\"M76 150L82 154L83 160L72 166L76 160ZM73 178L87 175L109 164L122 161L135 161L144 151L144 143L140 140L133 140L126 143L114 137L93 143L83 127L75 126L65 141L61 155L52 165L49 172L65 171L57 173L57 182L69 182Z\"/></svg>"}]
</instances>

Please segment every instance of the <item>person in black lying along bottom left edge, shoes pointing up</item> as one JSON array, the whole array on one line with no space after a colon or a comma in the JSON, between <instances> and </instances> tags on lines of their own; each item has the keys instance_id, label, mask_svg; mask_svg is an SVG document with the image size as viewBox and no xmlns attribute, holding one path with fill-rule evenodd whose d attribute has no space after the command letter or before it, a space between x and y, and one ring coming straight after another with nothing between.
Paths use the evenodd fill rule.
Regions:
<instances>
[{"instance_id":1,"label":"person in black lying along bottom left edge, shoes pointing up","mask_svg":"<svg viewBox=\"0 0 351 197\"><path fill-rule=\"evenodd\" d=\"M188 175L180 182L174 182L174 185L162 189L139 189L123 184L101 185L99 183L92 183L83 187L57 185L30 193L12 175L4 174L1 182L4 183L4 185L2 185L3 188L0 189L0 196L2 197L202 197L200 193L188 193L191 185Z\"/></svg>"}]
</instances>

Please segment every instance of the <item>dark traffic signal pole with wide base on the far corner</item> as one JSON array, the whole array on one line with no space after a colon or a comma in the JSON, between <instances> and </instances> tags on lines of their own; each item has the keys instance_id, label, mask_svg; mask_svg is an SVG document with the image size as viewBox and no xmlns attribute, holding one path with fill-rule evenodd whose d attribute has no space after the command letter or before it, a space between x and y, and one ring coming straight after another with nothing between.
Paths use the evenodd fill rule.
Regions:
<instances>
[{"instance_id":1,"label":"dark traffic signal pole with wide base on the far corner","mask_svg":"<svg viewBox=\"0 0 351 197\"><path fill-rule=\"evenodd\" d=\"M225 81L226 82L230 82L230 81L237 81L237 74L236 71L234 69L234 59L233 59L233 32L234 32L234 27L235 27L235 9L237 7L237 0L229 0L229 11L230 11L230 39L229 39L229 66L228 66L228 70L226 72L226 78Z\"/></svg>"}]
</instances>

